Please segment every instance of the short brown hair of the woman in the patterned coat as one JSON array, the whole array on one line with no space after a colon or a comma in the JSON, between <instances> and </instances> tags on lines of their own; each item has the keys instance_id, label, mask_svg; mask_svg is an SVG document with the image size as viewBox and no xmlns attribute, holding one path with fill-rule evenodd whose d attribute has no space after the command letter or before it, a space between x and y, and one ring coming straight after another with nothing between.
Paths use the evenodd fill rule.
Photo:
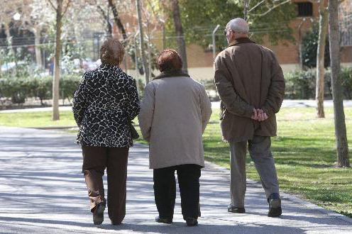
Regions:
<instances>
[{"instance_id":1,"label":"short brown hair of the woman in the patterned coat","mask_svg":"<svg viewBox=\"0 0 352 234\"><path fill-rule=\"evenodd\" d=\"M100 60L103 64L119 66L125 55L123 45L116 38L109 38L104 41L100 48Z\"/></svg>"}]
</instances>

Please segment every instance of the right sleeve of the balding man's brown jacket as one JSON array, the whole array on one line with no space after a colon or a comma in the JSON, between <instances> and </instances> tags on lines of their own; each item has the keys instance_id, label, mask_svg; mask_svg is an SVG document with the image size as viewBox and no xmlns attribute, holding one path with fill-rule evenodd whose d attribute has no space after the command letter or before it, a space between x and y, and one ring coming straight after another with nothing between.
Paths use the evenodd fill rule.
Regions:
<instances>
[{"instance_id":1,"label":"right sleeve of the balding man's brown jacket","mask_svg":"<svg viewBox=\"0 0 352 234\"><path fill-rule=\"evenodd\" d=\"M285 79L282 69L277 62L277 59L273 53L271 53L271 77L270 86L268 91L268 97L262 106L263 111L268 114L268 116L277 113L280 110L282 101L285 96Z\"/></svg>"}]
</instances>

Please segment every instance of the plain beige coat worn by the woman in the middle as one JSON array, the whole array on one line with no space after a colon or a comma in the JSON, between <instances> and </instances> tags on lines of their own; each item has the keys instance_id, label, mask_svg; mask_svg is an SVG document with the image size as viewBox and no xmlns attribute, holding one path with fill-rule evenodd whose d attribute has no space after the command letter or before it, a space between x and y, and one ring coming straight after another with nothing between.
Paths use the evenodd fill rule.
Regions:
<instances>
[{"instance_id":1,"label":"plain beige coat worn by the woman in the middle","mask_svg":"<svg viewBox=\"0 0 352 234\"><path fill-rule=\"evenodd\" d=\"M210 116L204 87L187 74L162 73L150 82L138 116L143 138L149 142L150 168L204 167L202 134Z\"/></svg>"}]
</instances>

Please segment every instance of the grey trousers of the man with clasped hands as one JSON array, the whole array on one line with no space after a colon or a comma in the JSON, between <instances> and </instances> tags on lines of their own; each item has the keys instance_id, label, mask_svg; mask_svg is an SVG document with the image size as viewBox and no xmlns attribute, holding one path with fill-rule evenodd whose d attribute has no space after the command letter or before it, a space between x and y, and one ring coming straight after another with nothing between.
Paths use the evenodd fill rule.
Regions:
<instances>
[{"instance_id":1,"label":"grey trousers of the man with clasped hands","mask_svg":"<svg viewBox=\"0 0 352 234\"><path fill-rule=\"evenodd\" d=\"M248 140L249 155L258 171L260 182L265 190L266 197L279 193L279 183L273 155L270 152L270 137L254 135ZM235 207L244 207L246 194L246 153L247 141L230 142L231 157L231 204Z\"/></svg>"}]
</instances>

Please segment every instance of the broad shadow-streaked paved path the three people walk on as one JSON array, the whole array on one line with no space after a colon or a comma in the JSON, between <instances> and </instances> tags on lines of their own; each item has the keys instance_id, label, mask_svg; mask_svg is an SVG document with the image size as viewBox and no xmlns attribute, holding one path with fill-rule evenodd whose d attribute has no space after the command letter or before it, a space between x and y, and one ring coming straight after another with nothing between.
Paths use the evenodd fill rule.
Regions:
<instances>
[{"instance_id":1,"label":"broad shadow-streaked paved path the three people walk on","mask_svg":"<svg viewBox=\"0 0 352 234\"><path fill-rule=\"evenodd\" d=\"M110 225L105 213L103 225L94 226L74 139L52 130L0 127L0 233L352 233L351 218L287 194L281 218L268 218L263 189L252 181L248 213L228 213L229 170L211 164L202 170L199 225L185 225L179 194L174 223L155 223L152 171L142 145L131 148L123 225Z\"/></svg>"}]
</instances>

